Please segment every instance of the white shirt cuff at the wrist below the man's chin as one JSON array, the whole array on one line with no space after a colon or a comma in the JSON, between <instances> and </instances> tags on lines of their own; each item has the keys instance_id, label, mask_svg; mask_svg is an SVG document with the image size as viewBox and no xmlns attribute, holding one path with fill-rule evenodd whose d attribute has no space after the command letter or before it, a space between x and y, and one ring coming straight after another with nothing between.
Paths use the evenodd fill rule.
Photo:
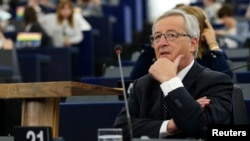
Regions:
<instances>
[{"instance_id":1,"label":"white shirt cuff at the wrist below the man's chin","mask_svg":"<svg viewBox=\"0 0 250 141\"><path fill-rule=\"evenodd\" d=\"M161 86L164 96L167 96L169 92L179 87L184 87L179 77L174 77L170 79L169 81L163 82L160 86Z\"/></svg>"}]
</instances>

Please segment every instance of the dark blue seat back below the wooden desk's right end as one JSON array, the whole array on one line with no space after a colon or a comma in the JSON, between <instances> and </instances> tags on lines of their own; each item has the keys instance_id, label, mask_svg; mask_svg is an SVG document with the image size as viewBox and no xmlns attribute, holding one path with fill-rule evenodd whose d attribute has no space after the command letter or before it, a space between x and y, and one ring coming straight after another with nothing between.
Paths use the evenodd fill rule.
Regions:
<instances>
[{"instance_id":1,"label":"dark blue seat back below the wooden desk's right end","mask_svg":"<svg viewBox=\"0 0 250 141\"><path fill-rule=\"evenodd\" d=\"M59 136L66 141L97 141L98 128L112 128L123 102L61 103Z\"/></svg>"}]
</instances>

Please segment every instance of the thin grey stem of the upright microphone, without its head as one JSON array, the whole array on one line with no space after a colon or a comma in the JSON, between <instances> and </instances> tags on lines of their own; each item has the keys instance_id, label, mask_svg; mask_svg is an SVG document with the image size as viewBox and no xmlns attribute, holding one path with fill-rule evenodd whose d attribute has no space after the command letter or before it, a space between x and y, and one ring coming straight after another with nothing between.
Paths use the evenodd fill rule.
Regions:
<instances>
[{"instance_id":1,"label":"thin grey stem of the upright microphone, without its head","mask_svg":"<svg viewBox=\"0 0 250 141\"><path fill-rule=\"evenodd\" d=\"M130 114L129 114L128 98L127 98L127 94L125 91L125 83L124 83L120 53L118 53L117 56L118 56L118 64L119 64L119 68L120 68L122 91L123 91L126 115L127 115L127 120L128 120L128 130L129 130L129 134L130 134L130 141L132 141L133 140L133 130L132 130L131 119L130 119Z\"/></svg>"}]
</instances>

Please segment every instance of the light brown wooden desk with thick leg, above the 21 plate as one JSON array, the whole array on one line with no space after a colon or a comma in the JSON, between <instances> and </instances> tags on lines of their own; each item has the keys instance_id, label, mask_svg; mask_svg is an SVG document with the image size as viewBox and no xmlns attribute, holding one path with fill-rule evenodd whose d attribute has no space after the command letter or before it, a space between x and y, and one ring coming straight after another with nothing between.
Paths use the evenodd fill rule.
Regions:
<instances>
[{"instance_id":1,"label":"light brown wooden desk with thick leg, above the 21 plate","mask_svg":"<svg viewBox=\"0 0 250 141\"><path fill-rule=\"evenodd\" d=\"M72 81L0 84L0 98L22 98L22 126L50 126L58 136L61 97L122 95L122 90Z\"/></svg>"}]
</instances>

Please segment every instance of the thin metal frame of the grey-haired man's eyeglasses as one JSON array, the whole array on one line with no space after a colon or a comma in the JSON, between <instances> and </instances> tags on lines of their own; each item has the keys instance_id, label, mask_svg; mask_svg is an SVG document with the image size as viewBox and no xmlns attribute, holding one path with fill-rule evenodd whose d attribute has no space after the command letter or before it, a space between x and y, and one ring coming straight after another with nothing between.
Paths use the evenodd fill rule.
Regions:
<instances>
[{"instance_id":1,"label":"thin metal frame of the grey-haired man's eyeglasses","mask_svg":"<svg viewBox=\"0 0 250 141\"><path fill-rule=\"evenodd\" d=\"M172 39L170 39L170 38L168 37L168 35L171 35L171 34L168 34L168 33L171 33L171 34L174 33L174 35L175 35L174 38L172 37ZM157 42L155 42L155 38L156 38L155 36L158 36L158 35L160 36L160 37L159 37L159 40L158 40ZM165 39L166 41L173 41L173 40L176 40L179 36L187 36L187 37L189 37L189 38L192 38L192 36L189 35L189 34L179 33L179 32L176 32L176 31L168 31L168 32L166 32L166 33L161 33L161 34L157 34L157 35L149 35L150 42L153 43L153 44L159 43L160 40L161 40L162 35L164 36L164 39Z\"/></svg>"}]
</instances>

